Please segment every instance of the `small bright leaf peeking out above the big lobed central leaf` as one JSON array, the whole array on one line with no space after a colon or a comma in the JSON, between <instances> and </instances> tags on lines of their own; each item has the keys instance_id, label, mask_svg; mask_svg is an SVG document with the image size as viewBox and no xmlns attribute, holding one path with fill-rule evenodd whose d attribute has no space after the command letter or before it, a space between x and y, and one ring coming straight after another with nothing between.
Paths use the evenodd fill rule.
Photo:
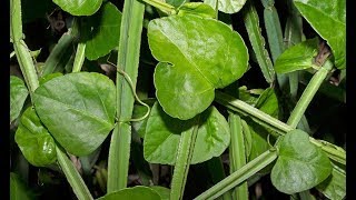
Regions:
<instances>
[{"instance_id":1,"label":"small bright leaf peeking out above the big lobed central leaf","mask_svg":"<svg viewBox=\"0 0 356 200\"><path fill-rule=\"evenodd\" d=\"M206 3L202 2L188 2L179 8L178 16L196 14L201 18L215 18L216 11Z\"/></svg>"}]
</instances>

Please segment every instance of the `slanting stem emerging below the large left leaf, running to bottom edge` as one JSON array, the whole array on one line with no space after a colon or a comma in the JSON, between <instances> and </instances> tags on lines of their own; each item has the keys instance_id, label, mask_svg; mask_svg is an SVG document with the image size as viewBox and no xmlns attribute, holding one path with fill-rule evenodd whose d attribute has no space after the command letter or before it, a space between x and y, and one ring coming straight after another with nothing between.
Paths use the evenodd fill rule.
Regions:
<instances>
[{"instance_id":1,"label":"slanting stem emerging below the large left leaf, running to bottom edge","mask_svg":"<svg viewBox=\"0 0 356 200\"><path fill-rule=\"evenodd\" d=\"M61 170L65 172L67 181L71 186L73 192L76 193L79 200L91 200L91 193L87 188L85 181L80 177L78 170L73 166L73 163L67 157L65 150L59 147L56 148L57 151L57 159Z\"/></svg>"}]
</instances>

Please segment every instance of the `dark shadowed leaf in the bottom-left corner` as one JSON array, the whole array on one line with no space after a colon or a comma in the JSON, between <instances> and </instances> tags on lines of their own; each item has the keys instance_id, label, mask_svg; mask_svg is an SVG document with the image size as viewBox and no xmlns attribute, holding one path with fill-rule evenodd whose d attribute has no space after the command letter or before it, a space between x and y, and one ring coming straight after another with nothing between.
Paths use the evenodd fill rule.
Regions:
<instances>
[{"instance_id":1,"label":"dark shadowed leaf in the bottom-left corner","mask_svg":"<svg viewBox=\"0 0 356 200\"><path fill-rule=\"evenodd\" d=\"M17 173L10 172L10 200L31 200L34 193Z\"/></svg>"}]
</instances>

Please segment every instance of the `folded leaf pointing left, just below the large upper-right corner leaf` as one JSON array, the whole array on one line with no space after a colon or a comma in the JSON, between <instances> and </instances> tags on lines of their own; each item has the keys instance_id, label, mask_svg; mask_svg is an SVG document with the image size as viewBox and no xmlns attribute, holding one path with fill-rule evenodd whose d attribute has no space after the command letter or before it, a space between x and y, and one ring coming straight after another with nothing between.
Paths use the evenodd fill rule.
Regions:
<instances>
[{"instance_id":1,"label":"folded leaf pointing left, just below the large upper-right corner leaf","mask_svg":"<svg viewBox=\"0 0 356 200\"><path fill-rule=\"evenodd\" d=\"M314 57L318 53L318 38L314 38L288 48L277 58L275 63L276 72L288 73L315 66Z\"/></svg>"}]
</instances>

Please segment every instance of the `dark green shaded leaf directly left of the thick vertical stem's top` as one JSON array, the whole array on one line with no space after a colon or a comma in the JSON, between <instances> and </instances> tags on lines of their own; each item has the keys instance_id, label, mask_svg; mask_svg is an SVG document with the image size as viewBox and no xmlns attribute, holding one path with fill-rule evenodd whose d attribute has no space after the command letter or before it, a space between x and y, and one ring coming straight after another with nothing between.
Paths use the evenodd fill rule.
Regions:
<instances>
[{"instance_id":1,"label":"dark green shaded leaf directly left of the thick vertical stem's top","mask_svg":"<svg viewBox=\"0 0 356 200\"><path fill-rule=\"evenodd\" d=\"M105 3L101 9L89 18L88 40L86 41L86 57L97 60L108 54L119 46L121 12L111 2Z\"/></svg>"}]
</instances>

